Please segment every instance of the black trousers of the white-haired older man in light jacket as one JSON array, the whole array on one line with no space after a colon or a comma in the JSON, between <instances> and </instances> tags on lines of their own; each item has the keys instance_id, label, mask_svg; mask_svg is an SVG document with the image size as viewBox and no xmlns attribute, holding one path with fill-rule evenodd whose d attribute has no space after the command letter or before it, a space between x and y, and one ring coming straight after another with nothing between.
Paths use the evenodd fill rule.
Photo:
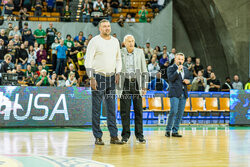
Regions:
<instances>
[{"instance_id":1,"label":"black trousers of the white-haired older man in light jacket","mask_svg":"<svg viewBox=\"0 0 250 167\"><path fill-rule=\"evenodd\" d=\"M137 82L131 82L125 79L123 93L121 96L121 120L122 120L122 137L130 137L130 106L131 98L134 104L135 112L135 136L136 138L143 137L142 125L142 98L138 90Z\"/></svg>"}]
</instances>

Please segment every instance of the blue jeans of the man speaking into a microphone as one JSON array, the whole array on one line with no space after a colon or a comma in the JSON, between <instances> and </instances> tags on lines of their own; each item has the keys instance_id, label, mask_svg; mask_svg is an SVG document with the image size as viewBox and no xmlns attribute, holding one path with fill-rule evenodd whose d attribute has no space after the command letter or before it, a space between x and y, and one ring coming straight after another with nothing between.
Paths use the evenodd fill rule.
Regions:
<instances>
[{"instance_id":1,"label":"blue jeans of the man speaking into a microphone","mask_svg":"<svg viewBox=\"0 0 250 167\"><path fill-rule=\"evenodd\" d=\"M180 98L177 97L170 98L171 108L168 116L168 124L166 127L167 132L172 131L173 133L178 133L185 105L186 105L186 98L184 96L184 92Z\"/></svg>"}]
</instances>

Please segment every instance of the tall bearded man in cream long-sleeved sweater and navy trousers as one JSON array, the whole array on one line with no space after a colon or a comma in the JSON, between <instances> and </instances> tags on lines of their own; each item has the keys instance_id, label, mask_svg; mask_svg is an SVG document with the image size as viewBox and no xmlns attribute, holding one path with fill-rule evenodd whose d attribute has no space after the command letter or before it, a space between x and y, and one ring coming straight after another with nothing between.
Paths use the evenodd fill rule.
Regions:
<instances>
[{"instance_id":1,"label":"tall bearded man in cream long-sleeved sweater and navy trousers","mask_svg":"<svg viewBox=\"0 0 250 167\"><path fill-rule=\"evenodd\" d=\"M111 144L123 144L118 139L115 113L115 83L119 83L122 62L119 41L110 35L108 20L99 23L100 35L91 39L87 47L85 67L92 88L92 129L95 144L104 145L100 128L101 103L107 104L107 123Z\"/></svg>"}]
</instances>

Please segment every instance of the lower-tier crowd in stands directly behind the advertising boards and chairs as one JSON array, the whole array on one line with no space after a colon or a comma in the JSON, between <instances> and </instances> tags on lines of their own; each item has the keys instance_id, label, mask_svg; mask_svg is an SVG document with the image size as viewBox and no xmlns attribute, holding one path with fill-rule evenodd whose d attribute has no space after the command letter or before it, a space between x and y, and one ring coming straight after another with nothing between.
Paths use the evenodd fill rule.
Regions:
<instances>
[{"instance_id":1,"label":"lower-tier crowd in stands directly behind the advertising boards and chairs","mask_svg":"<svg viewBox=\"0 0 250 167\"><path fill-rule=\"evenodd\" d=\"M89 86L84 60L92 37L91 34L85 37L82 31L75 37L70 34L63 37L53 23L47 28L39 24L36 30L31 30L27 22L21 29L10 22L0 33L0 73L16 73L19 82L26 85ZM121 47L124 47L122 43ZM174 63L177 50L172 48L168 52L166 45L152 48L149 42L145 47L137 47L145 53L150 74L149 90L168 90L167 70ZM184 66L190 72L191 91L244 89L238 75L234 76L233 82L227 77L222 83L213 67L204 67L200 58L193 61L189 56ZM245 89L249 88L250 82L245 85Z\"/></svg>"}]
</instances>

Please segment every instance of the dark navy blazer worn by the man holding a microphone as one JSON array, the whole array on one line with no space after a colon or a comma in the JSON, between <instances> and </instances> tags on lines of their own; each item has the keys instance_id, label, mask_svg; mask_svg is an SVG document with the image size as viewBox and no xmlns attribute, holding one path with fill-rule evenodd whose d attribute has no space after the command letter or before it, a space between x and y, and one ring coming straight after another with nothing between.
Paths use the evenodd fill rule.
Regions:
<instances>
[{"instance_id":1,"label":"dark navy blazer worn by the man holding a microphone","mask_svg":"<svg viewBox=\"0 0 250 167\"><path fill-rule=\"evenodd\" d=\"M181 97L184 87L184 95L188 98L187 94L187 85L182 81L181 73L177 73L177 65L171 65L167 70L168 81L169 81L169 97ZM189 71L186 67L183 66L184 70L184 79L189 79Z\"/></svg>"}]
</instances>

